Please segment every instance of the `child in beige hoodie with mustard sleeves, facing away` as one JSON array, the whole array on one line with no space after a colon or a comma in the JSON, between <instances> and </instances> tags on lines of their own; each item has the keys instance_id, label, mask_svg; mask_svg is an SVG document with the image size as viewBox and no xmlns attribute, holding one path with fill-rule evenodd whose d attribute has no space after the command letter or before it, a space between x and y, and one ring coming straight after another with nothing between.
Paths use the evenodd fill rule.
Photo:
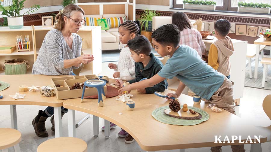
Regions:
<instances>
[{"instance_id":1,"label":"child in beige hoodie with mustard sleeves, facing away","mask_svg":"<svg viewBox=\"0 0 271 152\"><path fill-rule=\"evenodd\" d=\"M231 64L230 56L234 52L232 40L229 36L231 23L228 20L217 20L214 25L214 32L217 40L210 46L208 65L218 72L230 78Z\"/></svg>"}]
</instances>

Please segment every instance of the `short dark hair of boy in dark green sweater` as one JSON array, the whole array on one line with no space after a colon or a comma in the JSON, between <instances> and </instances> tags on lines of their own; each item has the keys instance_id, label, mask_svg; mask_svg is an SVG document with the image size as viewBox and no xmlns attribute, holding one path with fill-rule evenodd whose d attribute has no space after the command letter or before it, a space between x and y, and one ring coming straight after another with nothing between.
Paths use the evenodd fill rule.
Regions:
<instances>
[{"instance_id":1,"label":"short dark hair of boy in dark green sweater","mask_svg":"<svg viewBox=\"0 0 271 152\"><path fill-rule=\"evenodd\" d=\"M151 43L145 36L136 36L128 41L127 46L137 55L145 54L149 56L151 54Z\"/></svg>"}]
</instances>

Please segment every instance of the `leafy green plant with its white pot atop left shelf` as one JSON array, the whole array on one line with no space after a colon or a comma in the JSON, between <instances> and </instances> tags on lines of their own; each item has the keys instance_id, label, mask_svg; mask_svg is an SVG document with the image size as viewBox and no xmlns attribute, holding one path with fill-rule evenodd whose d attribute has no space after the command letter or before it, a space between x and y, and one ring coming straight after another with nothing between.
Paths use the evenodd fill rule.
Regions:
<instances>
[{"instance_id":1,"label":"leafy green plant with its white pot atop left shelf","mask_svg":"<svg viewBox=\"0 0 271 152\"><path fill-rule=\"evenodd\" d=\"M26 0L13 0L13 4L9 5L8 9L5 9L2 5L0 5L0 8L3 10L2 15L5 15L8 17L8 27L11 29L21 29L23 28L23 15L29 12L33 13L34 11L37 11L40 6L34 4L31 6L30 10L26 11L24 14L20 15L20 11L24 7L24 2Z\"/></svg>"}]
</instances>

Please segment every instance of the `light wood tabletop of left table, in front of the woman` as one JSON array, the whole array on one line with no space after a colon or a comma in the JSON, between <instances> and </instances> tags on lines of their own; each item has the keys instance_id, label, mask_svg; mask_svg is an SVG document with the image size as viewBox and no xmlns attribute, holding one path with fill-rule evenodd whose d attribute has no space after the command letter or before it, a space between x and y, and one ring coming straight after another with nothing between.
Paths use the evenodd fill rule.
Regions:
<instances>
[{"instance_id":1,"label":"light wood tabletop of left table, in front of the woman","mask_svg":"<svg viewBox=\"0 0 271 152\"><path fill-rule=\"evenodd\" d=\"M3 94L3 99L0 99L0 105L43 105L51 107L61 107L65 100L58 100L54 97L41 96L39 91L27 91L19 92L19 86L26 85L32 86L47 86L51 85L51 78L56 77L67 77L67 75L49 76L49 75L33 75L33 74L22 74L22 75L0 75L0 81L4 81L10 84L10 87L0 91ZM23 99L13 99L9 95L15 93L26 94Z\"/></svg>"}]
</instances>

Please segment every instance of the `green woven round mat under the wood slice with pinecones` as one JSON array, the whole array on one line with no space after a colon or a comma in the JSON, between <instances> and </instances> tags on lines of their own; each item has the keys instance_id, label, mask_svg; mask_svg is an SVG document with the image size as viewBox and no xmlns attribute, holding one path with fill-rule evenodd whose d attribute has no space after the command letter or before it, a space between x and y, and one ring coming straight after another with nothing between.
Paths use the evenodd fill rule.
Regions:
<instances>
[{"instance_id":1,"label":"green woven round mat under the wood slice with pinecones","mask_svg":"<svg viewBox=\"0 0 271 152\"><path fill-rule=\"evenodd\" d=\"M202 115L202 119L200 120L185 120L185 119L179 119L179 118L173 118L170 116L167 116L164 114L165 109L169 109L168 106L160 107L152 111L151 115L154 117L154 119L160 121L161 123L166 123L170 125L182 125L182 126L192 126L200 124L204 121L207 121L209 119L209 114L206 111L203 111L196 107L188 106L189 109L192 109L195 112L198 112ZM182 105L181 105L182 109Z\"/></svg>"}]
</instances>

